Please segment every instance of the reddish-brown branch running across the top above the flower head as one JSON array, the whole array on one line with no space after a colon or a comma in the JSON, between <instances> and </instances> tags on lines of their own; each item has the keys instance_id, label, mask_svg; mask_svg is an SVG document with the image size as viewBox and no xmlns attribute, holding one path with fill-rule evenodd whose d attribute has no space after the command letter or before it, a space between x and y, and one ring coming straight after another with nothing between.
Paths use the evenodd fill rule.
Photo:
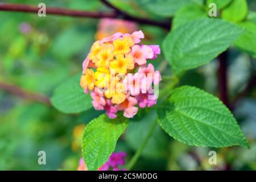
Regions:
<instances>
[{"instance_id":1,"label":"reddish-brown branch running across the top above the flower head","mask_svg":"<svg viewBox=\"0 0 256 182\"><path fill-rule=\"evenodd\" d=\"M114 9L114 7L112 7ZM37 6L31 5L19 5L11 3L2 3L0 4L0 11L14 11L14 12L24 12L24 13L38 13L40 8ZM170 22L158 22L146 18L137 18L135 16L128 15L123 13L121 10L115 10L113 13L109 12L90 12L90 11L81 11L81 10L69 10L56 7L46 7L46 14L49 15L62 15L62 16L75 16L81 18L122 18L125 20L130 20L133 22L141 24L150 24L152 26L158 26L170 30Z\"/></svg>"}]
</instances>

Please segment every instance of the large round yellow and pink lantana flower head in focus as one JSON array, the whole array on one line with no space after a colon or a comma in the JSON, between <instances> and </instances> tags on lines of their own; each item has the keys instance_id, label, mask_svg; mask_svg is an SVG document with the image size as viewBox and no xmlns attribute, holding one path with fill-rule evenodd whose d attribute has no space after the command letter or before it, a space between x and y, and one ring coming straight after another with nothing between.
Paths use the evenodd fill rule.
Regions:
<instances>
[{"instance_id":1,"label":"large round yellow and pink lantana flower head in focus","mask_svg":"<svg viewBox=\"0 0 256 182\"><path fill-rule=\"evenodd\" d=\"M159 71L147 64L160 54L159 46L139 45L142 31L114 35L96 41L84 63L80 85L93 98L96 110L105 110L109 118L123 111L133 118L138 107L151 107L158 96L154 94L161 81Z\"/></svg>"}]
</instances>

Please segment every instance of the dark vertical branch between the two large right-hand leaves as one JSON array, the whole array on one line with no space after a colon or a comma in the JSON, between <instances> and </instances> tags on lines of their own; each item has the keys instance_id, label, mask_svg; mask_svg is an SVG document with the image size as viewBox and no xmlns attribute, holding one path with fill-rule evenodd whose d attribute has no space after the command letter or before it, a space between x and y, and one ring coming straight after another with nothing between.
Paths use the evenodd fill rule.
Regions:
<instances>
[{"instance_id":1,"label":"dark vertical branch between the two large right-hand leaves","mask_svg":"<svg viewBox=\"0 0 256 182\"><path fill-rule=\"evenodd\" d=\"M228 97L228 52L222 52L218 56L218 94L220 100L230 108Z\"/></svg>"}]
</instances>

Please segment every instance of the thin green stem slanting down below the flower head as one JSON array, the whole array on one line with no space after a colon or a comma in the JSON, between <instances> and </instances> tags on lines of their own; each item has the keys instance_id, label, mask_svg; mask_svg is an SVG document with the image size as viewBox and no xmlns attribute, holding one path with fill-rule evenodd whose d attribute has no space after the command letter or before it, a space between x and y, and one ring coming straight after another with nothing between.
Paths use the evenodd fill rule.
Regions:
<instances>
[{"instance_id":1,"label":"thin green stem slanting down below the flower head","mask_svg":"<svg viewBox=\"0 0 256 182\"><path fill-rule=\"evenodd\" d=\"M141 156L142 151L144 150L144 147L146 147L146 144L148 142L148 140L150 139L150 137L152 136L152 134L155 131L155 127L158 124L158 119L155 120L154 123L152 123L152 126L150 127L150 130L148 130L147 136L144 139L143 143L141 144L141 146L138 148L138 150L136 151L136 153L134 154L133 158L131 158L130 162L127 164L127 169L131 170L134 166L134 164L137 162L137 160L139 159L139 156Z\"/></svg>"}]
</instances>

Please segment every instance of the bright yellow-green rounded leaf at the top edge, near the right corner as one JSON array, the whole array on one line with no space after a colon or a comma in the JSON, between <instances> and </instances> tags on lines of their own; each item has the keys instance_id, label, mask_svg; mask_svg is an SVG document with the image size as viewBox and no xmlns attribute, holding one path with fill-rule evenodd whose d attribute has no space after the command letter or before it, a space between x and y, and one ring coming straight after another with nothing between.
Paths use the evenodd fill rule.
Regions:
<instances>
[{"instance_id":1,"label":"bright yellow-green rounded leaf at the top edge, near the right corner","mask_svg":"<svg viewBox=\"0 0 256 182\"><path fill-rule=\"evenodd\" d=\"M222 11L222 18L230 22L241 22L248 13L246 0L233 0L232 4Z\"/></svg>"}]
</instances>

